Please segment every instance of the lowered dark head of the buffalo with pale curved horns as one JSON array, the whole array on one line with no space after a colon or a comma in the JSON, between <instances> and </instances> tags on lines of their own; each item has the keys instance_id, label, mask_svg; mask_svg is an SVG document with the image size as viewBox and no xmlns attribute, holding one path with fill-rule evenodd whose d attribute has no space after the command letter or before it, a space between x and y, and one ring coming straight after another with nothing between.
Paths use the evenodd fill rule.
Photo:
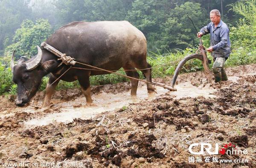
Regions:
<instances>
[{"instance_id":1,"label":"lowered dark head of the buffalo with pale curved horns","mask_svg":"<svg viewBox=\"0 0 256 168\"><path fill-rule=\"evenodd\" d=\"M42 50L38 47L38 54L32 59L26 61L21 57L17 64L14 64L14 52L12 53L11 69L13 73L12 80L17 84L17 106L24 106L38 91L42 78L49 73L50 65L55 60L49 60L41 63Z\"/></svg>"}]
</instances>

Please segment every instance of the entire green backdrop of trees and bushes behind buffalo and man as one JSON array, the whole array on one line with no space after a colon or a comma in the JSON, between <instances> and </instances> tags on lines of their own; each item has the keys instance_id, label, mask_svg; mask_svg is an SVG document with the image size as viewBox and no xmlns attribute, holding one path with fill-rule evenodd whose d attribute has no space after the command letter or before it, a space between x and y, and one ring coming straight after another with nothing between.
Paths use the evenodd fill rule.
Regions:
<instances>
[{"instance_id":1,"label":"entire green backdrop of trees and bushes behind buffalo and man","mask_svg":"<svg viewBox=\"0 0 256 168\"><path fill-rule=\"evenodd\" d=\"M68 22L86 20L128 20L139 28L148 41L148 62L152 76L172 76L180 59L195 53L198 39L187 18L198 28L209 22L212 8L221 11L221 0L0 0L0 95L16 94L9 62L13 50L16 60L36 54L40 45L54 30ZM48 3L51 2L51 3ZM223 20L230 26L232 53L226 67L256 63L256 0L225 0ZM29 5L30 4L30 5ZM52 17L54 16L54 17ZM44 18L44 19L41 19ZM203 37L209 47L209 36ZM177 49L180 48L180 49ZM2 56L1 56L2 55ZM208 56L211 59L211 56ZM171 63L170 63L171 62ZM169 64L168 64L169 63ZM163 65L164 66L160 66ZM211 66L211 64L210 64ZM187 62L181 73L203 70L201 61ZM140 78L143 74L138 71ZM125 72L121 69L117 73ZM44 77L40 90L44 90ZM91 85L129 81L115 74L91 76ZM79 87L78 81L61 81L57 89Z\"/></svg>"}]
</instances>

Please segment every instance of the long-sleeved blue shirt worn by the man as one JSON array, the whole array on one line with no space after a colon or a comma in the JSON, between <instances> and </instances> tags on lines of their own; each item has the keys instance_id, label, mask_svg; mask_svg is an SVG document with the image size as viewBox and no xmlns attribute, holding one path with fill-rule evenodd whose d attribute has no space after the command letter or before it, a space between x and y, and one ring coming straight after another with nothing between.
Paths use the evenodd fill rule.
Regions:
<instances>
[{"instance_id":1,"label":"long-sleeved blue shirt worn by the man","mask_svg":"<svg viewBox=\"0 0 256 168\"><path fill-rule=\"evenodd\" d=\"M210 22L207 26L201 28L200 32L204 35L210 34L211 46L213 48L211 55L213 57L225 58L230 56L230 30L222 20L217 27L215 27L214 23Z\"/></svg>"}]
</instances>

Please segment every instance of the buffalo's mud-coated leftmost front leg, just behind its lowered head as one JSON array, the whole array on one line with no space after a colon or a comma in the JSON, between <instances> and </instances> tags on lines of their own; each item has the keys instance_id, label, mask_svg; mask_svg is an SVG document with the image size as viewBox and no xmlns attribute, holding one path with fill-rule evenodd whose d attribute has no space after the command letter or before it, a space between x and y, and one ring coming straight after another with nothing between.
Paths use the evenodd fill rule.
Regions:
<instances>
[{"instance_id":1,"label":"buffalo's mud-coated leftmost front leg, just behind its lowered head","mask_svg":"<svg viewBox=\"0 0 256 168\"><path fill-rule=\"evenodd\" d=\"M58 85L60 80L55 81L57 78L55 76L50 76L49 81L47 83L47 89L45 92L45 97L44 97L44 103L42 107L49 107L51 103L51 98L52 94L54 93L55 87Z\"/></svg>"}]
</instances>

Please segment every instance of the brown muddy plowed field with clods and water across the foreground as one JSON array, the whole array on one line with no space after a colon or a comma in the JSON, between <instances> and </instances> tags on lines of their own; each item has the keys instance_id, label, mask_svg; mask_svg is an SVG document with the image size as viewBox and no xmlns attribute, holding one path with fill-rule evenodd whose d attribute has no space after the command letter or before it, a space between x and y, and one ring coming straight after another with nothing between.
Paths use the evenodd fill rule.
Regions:
<instances>
[{"instance_id":1,"label":"brown muddy plowed field with clods and water across the foreground","mask_svg":"<svg viewBox=\"0 0 256 168\"><path fill-rule=\"evenodd\" d=\"M93 106L85 105L80 89L55 92L49 109L40 108L43 93L23 108L15 106L15 96L2 96L0 167L13 163L20 167L255 168L256 64L229 68L227 74L230 80L221 85L208 84L202 72L183 74L177 92L157 87L154 95L139 83L137 98L130 97L129 83L96 86ZM170 84L171 79L153 81ZM213 149L215 143L219 149L227 144L226 150L247 153L193 155L192 143L210 143ZM189 162L189 157L195 157L195 162ZM196 162L196 157L202 162ZM248 162L212 162L213 157Z\"/></svg>"}]
</instances>

